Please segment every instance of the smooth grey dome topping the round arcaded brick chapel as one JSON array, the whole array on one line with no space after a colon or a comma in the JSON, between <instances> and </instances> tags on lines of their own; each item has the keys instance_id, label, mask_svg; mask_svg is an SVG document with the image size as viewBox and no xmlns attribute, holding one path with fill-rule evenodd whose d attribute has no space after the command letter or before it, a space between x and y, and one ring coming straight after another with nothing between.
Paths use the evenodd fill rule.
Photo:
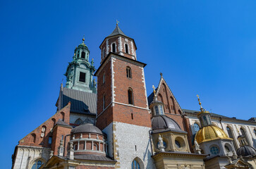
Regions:
<instances>
[{"instance_id":1,"label":"smooth grey dome topping the round arcaded brick chapel","mask_svg":"<svg viewBox=\"0 0 256 169\"><path fill-rule=\"evenodd\" d=\"M102 134L102 131L99 130L98 127L95 125L92 125L90 123L86 123L83 125L78 125L78 127L75 127L71 130L71 134L75 133L96 133L96 134Z\"/></svg>"}]
</instances>

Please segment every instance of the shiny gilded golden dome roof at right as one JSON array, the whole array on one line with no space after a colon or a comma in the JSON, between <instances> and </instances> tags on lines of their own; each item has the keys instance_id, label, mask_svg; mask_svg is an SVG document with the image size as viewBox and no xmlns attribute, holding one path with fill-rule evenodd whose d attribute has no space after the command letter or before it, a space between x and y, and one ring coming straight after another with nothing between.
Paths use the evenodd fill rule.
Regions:
<instances>
[{"instance_id":1,"label":"shiny gilded golden dome roof at right","mask_svg":"<svg viewBox=\"0 0 256 169\"><path fill-rule=\"evenodd\" d=\"M208 125L206 127L202 127L197 134L195 134L195 139L197 139L197 143L208 142L214 139L229 139L228 135L219 127L214 125Z\"/></svg>"}]
</instances>

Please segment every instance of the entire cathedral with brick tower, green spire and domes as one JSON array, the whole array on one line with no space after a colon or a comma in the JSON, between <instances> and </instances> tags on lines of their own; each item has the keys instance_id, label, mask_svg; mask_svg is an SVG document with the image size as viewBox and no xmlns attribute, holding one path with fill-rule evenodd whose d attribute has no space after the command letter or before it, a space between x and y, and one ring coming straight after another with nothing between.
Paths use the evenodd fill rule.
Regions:
<instances>
[{"instance_id":1,"label":"entire cathedral with brick tower, green spire and domes","mask_svg":"<svg viewBox=\"0 0 256 169\"><path fill-rule=\"evenodd\" d=\"M147 96L135 40L116 27L95 68L83 42L61 84L57 111L20 139L13 169L256 168L256 118L183 109L160 73ZM95 80L97 77L97 82Z\"/></svg>"}]
</instances>

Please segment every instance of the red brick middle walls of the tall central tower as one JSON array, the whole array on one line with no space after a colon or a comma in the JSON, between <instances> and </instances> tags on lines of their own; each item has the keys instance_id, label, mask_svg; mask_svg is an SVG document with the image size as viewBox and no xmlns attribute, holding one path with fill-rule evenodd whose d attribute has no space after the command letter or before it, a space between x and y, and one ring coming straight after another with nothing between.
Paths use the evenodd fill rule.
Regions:
<instances>
[{"instance_id":1,"label":"red brick middle walls of the tall central tower","mask_svg":"<svg viewBox=\"0 0 256 169\"><path fill-rule=\"evenodd\" d=\"M128 104L128 89L133 89L133 105L141 108L147 108L147 98L145 96L144 82L142 81L142 67L121 61L118 58L114 60L114 101L121 104ZM126 67L132 70L132 78L126 77ZM102 84L102 75L105 73L105 84ZM106 106L111 103L111 61L106 63L103 70L98 75L98 102L97 113L102 113L103 95L106 96ZM147 110L115 104L114 107L109 106L104 113L97 118L97 127L103 130L104 127L111 122L122 122L140 126L151 127L150 114ZM133 119L132 114L133 113Z\"/></svg>"}]
</instances>

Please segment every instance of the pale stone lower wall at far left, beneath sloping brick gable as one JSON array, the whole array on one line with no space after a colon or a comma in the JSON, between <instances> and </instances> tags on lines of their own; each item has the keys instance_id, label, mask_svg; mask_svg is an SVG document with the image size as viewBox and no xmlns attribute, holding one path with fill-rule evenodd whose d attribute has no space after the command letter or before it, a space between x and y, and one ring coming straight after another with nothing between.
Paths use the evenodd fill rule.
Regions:
<instances>
[{"instance_id":1,"label":"pale stone lower wall at far left, beneath sloping brick gable","mask_svg":"<svg viewBox=\"0 0 256 169\"><path fill-rule=\"evenodd\" d=\"M18 146L13 169L30 169L35 161L45 163L50 157L51 149L36 146Z\"/></svg>"}]
</instances>

